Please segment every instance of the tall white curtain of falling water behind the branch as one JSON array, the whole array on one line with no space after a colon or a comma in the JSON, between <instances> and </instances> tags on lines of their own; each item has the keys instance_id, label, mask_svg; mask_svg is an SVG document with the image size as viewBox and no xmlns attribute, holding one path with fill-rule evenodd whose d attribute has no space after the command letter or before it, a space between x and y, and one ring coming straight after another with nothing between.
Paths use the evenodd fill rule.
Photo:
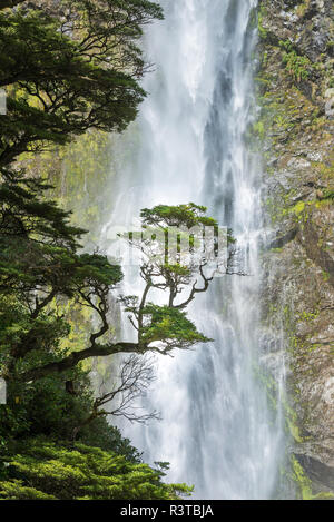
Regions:
<instances>
[{"instance_id":1,"label":"tall white curtain of falling water behind the branch","mask_svg":"<svg viewBox=\"0 0 334 522\"><path fill-rule=\"evenodd\" d=\"M163 421L125 430L147 461L170 462L168 480L195 484L195 498L268 499L282 435L256 378L261 175L244 139L254 110L257 1L161 4L165 20L145 43L156 70L147 76L139 119L122 138L127 146L139 135L119 173L109 225L120 216L129 223L140 208L157 204L206 205L222 226L233 228L250 275L215 279L198 296L190 316L215 342L159 357L143 404L160 411Z\"/></svg>"}]
</instances>

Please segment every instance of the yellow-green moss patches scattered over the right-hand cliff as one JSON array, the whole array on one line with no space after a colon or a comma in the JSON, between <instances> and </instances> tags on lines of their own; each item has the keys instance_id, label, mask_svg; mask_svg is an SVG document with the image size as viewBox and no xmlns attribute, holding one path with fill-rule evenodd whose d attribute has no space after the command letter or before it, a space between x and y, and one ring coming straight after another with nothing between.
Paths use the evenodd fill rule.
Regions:
<instances>
[{"instance_id":1,"label":"yellow-green moss patches scattered over the right-hand cliff","mask_svg":"<svg viewBox=\"0 0 334 522\"><path fill-rule=\"evenodd\" d=\"M313 100L318 101L321 93L325 92L328 88L328 82L332 81L330 79L332 77L332 63L328 60L328 53L317 57L317 61L313 63L304 52L305 35L302 31L306 28L306 24L312 30L311 20L305 20L305 24L304 20L296 21L295 35L301 37L298 45L295 45L293 40L285 40L281 41L279 47L277 47L275 43L276 38L276 41L279 38L286 38L285 36L282 37L286 35L286 31L283 24L282 27L279 26L278 20L275 19L274 23L271 23L273 14L276 12L273 2L266 0L263 3L268 8L268 12L265 13L263 10L259 17L259 32L263 41L261 42L261 70L257 72L256 86L258 105L261 107L261 124L257 124L255 129L265 129L265 148L271 151L271 165L275 165L274 175L276 177L275 189L269 193L271 197L266 199L265 205L273 224L286 226L287 221L289 225L293 225L295 221L298 224L298 228L302 229L307 219L312 219L313 215L320 215L317 209L322 210L326 206L324 210L327 216L327 207L330 208L333 205L334 199L334 157L332 158L331 152L328 152L332 140L327 131L328 119L321 114L318 104L313 102ZM302 18L308 9L310 0L291 3L298 3L297 7L292 7L291 11L295 11ZM277 9L279 8L277 7ZM278 14L278 11L276 13ZM273 31L273 35L272 32L268 35L264 30L265 27L271 27L269 30ZM279 63L281 60L284 67ZM304 93L304 87L306 87L305 80L308 80L307 86L310 90L312 88L310 99ZM259 132L257 134L259 135ZM308 138L307 140L305 139L306 137ZM315 161L310 168L305 167L305 181L303 179L303 168L301 167L295 178L292 179L291 185L293 188L285 188L287 184L281 184L281 176L285 180L284 173L292 170L289 161L296 157L304 158L308 150L320 150L321 155L326 157L325 161ZM276 161L274 162L272 160L275 157ZM298 167L296 170L298 170ZM266 174L273 174L272 166L266 169ZM314 179L317 180L316 184L318 186L326 188L322 190L314 189L314 195L310 191L310 196L313 197L312 200L306 200L310 198L308 196L305 200L297 201L301 186ZM291 263L291 272L288 274L293 274L296 267L298 277L301 264L304 267L305 262L307 263L306 256L291 254L285 248L284 250L286 258ZM275 254L279 249L273 249L272 252ZM323 278L326 280L326 273L323 273ZM292 279L296 280L293 276ZM283 280L285 280L284 276ZM296 283L298 284L298 280ZM279 283L277 283L277 288L275 287L272 293L276 301L272 302L268 306L265 324L266 326L268 324L272 326L273 323L277 322L279 327L282 327L283 323L283 329L289 341L292 374L287 382L288 395L286 397L281 395L281 407L284 410L287 436L294 441L294 445L298 445L310 440L310 437L304 436L304 431L301 431L301 427L310 425L312 405L306 402L305 394L301 393L302 387L299 388L296 383L302 382L304 377L306 380L310 378L308 373L312 376L314 375L313 372L316 368L307 365L307 357L310 357L311 352L321 349L322 346L311 344L307 335L306 338L301 338L302 335L296 331L296 322L299 321L301 326L306 326L307 323L311 323L311 325L307 325L308 329L306 329L306 332L310 332L310 328L317 325L313 325L312 322L315 322L317 318L318 312L316 308L318 304L314 306L314 309L311 308L298 313L301 309L299 304L296 306L297 312L292 309L289 305L281 305L283 299L286 303L287 298L292 296L276 296L276 290L283 290L283 284L279 286ZM292 301L294 301L294 297L292 297ZM305 329L301 328L298 332L305 332ZM275 393L271 393L271 385L268 390L268 393L275 397ZM303 403L303 400L305 400L305 403ZM271 404L274 405L274 401L271 401ZM292 461L291 469L289 480L293 479L296 483L301 499L333 498L330 493L315 494L313 492L312 480L306 476L305 471L296 459Z\"/></svg>"}]
</instances>

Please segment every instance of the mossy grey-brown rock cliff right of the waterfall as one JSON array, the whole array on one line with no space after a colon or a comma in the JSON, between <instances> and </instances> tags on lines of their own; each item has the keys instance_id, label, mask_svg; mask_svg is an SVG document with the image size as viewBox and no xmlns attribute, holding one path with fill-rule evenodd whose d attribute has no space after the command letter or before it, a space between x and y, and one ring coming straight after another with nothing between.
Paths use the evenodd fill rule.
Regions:
<instances>
[{"instance_id":1,"label":"mossy grey-brown rock cliff right of the waterfall","mask_svg":"<svg viewBox=\"0 0 334 522\"><path fill-rule=\"evenodd\" d=\"M334 492L333 31L332 0L261 2L254 130L275 229L264 256L264 316L288 339L291 456L304 498Z\"/></svg>"}]
</instances>

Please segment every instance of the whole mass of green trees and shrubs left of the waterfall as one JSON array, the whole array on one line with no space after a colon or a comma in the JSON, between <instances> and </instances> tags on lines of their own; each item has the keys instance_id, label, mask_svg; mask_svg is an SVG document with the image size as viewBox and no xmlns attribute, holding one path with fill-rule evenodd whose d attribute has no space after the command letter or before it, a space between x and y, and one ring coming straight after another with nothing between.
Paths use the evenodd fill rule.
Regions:
<instances>
[{"instance_id":1,"label":"whole mass of green trees and shrubs left of the waterfall","mask_svg":"<svg viewBox=\"0 0 334 522\"><path fill-rule=\"evenodd\" d=\"M106 417L146 418L129 407L153 378L145 352L207 341L185 311L203 290L194 285L181 305L170 298L163 307L144 296L137 306L125 296L138 321L138 342L116 341L109 294L122 279L121 267L99 252L82 252L86 230L50 199L52 187L36 156L87 130L119 131L135 119L145 96L139 80L149 68L136 40L143 26L161 16L146 0L1 4L0 86L7 92L7 115L0 117L0 376L7 383L7 404L0 405L1 499L175 499L190 492L164 484L166 465L143 464ZM143 218L155 213L146 209ZM189 205L179 216L204 223L204 214ZM190 277L177 265L155 265L170 295ZM147 297L157 284L149 264L141 269ZM68 309L88 311L82 344L73 343ZM114 386L97 397L81 361L131 352ZM114 405L116 396L120 405Z\"/></svg>"}]
</instances>

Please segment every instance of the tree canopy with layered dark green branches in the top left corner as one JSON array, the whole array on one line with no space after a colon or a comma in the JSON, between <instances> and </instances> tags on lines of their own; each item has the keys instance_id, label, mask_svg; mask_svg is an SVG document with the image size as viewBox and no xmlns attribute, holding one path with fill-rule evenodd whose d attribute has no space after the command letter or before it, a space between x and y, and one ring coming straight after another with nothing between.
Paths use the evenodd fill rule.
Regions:
<instances>
[{"instance_id":1,"label":"tree canopy with layered dark green branches in the top left corner","mask_svg":"<svg viewBox=\"0 0 334 522\"><path fill-rule=\"evenodd\" d=\"M161 9L145 0L17 3L0 11L0 87L8 95L0 167L89 128L124 130L145 97L138 79L147 66L135 41Z\"/></svg>"}]
</instances>

